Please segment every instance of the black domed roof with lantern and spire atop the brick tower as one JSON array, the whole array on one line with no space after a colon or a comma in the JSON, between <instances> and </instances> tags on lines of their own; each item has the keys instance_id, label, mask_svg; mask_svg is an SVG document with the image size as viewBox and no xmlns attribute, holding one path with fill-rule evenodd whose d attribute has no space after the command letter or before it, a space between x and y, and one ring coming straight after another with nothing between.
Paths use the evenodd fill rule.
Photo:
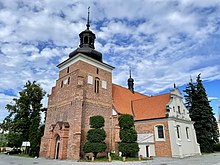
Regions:
<instances>
[{"instance_id":1,"label":"black domed roof with lantern and spire atop the brick tower","mask_svg":"<svg viewBox=\"0 0 220 165\"><path fill-rule=\"evenodd\" d=\"M89 27L90 27L89 8L88 8L88 18L87 18L87 24L86 24L87 28L86 28L86 30L82 31L79 34L79 37L80 37L79 48L77 48L76 50L71 52L69 54L69 57L71 58L78 53L82 53L82 54L85 54L85 55L95 59L95 60L102 62L102 53L95 50L95 46L94 46L95 39L96 39L95 34L89 29Z\"/></svg>"}]
</instances>

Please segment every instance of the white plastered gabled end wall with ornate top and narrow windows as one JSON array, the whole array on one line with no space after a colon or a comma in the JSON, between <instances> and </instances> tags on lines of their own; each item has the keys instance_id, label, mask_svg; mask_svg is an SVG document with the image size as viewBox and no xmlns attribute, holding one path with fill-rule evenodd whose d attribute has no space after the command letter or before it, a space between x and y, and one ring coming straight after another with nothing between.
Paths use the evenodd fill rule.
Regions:
<instances>
[{"instance_id":1,"label":"white plastered gabled end wall with ornate top and narrow windows","mask_svg":"<svg viewBox=\"0 0 220 165\"><path fill-rule=\"evenodd\" d=\"M169 108L168 128L172 157L183 158L186 156L200 155L200 147L196 140L193 122L189 117L188 110L183 104L181 93L177 88L170 93L171 100L167 108ZM180 138L177 136L177 127L179 127ZM186 131L186 128L188 131Z\"/></svg>"}]
</instances>

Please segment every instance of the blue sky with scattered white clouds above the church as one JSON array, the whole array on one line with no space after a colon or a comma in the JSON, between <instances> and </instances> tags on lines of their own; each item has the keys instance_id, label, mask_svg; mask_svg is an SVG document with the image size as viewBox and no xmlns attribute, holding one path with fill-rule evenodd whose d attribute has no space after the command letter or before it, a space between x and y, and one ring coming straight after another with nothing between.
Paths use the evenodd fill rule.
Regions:
<instances>
[{"instance_id":1,"label":"blue sky with scattered white clouds above the church","mask_svg":"<svg viewBox=\"0 0 220 165\"><path fill-rule=\"evenodd\" d=\"M90 6L95 48L115 67L113 83L146 95L182 91L201 73L214 113L220 106L219 0L0 1L0 122L5 105L36 80L50 94L59 63L79 46ZM183 93L184 95L184 93ZM47 97L43 100L47 106Z\"/></svg>"}]
</instances>

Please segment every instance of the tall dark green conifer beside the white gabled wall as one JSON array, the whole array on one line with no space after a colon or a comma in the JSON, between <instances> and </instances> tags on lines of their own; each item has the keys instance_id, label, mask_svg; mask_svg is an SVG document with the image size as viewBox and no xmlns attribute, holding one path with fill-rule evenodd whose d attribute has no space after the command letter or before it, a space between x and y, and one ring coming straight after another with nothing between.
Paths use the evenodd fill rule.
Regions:
<instances>
[{"instance_id":1,"label":"tall dark green conifer beside the white gabled wall","mask_svg":"<svg viewBox=\"0 0 220 165\"><path fill-rule=\"evenodd\" d=\"M218 142L218 127L200 74L196 83L190 82L184 92L186 107L192 121L195 122L194 127L201 151L213 152L213 146Z\"/></svg>"}]
</instances>

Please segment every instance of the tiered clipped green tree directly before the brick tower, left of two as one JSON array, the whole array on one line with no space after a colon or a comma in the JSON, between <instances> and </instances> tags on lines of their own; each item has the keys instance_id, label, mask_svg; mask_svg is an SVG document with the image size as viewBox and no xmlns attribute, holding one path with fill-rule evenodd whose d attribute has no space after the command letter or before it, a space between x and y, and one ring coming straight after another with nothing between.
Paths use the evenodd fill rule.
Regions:
<instances>
[{"instance_id":1,"label":"tiered clipped green tree directly before the brick tower, left of two","mask_svg":"<svg viewBox=\"0 0 220 165\"><path fill-rule=\"evenodd\" d=\"M106 138L105 130L103 129L105 120L102 116L90 117L91 129L87 132L87 141L83 145L83 152L94 154L94 158L97 157L99 152L104 152L107 148L104 142Z\"/></svg>"}]
</instances>

